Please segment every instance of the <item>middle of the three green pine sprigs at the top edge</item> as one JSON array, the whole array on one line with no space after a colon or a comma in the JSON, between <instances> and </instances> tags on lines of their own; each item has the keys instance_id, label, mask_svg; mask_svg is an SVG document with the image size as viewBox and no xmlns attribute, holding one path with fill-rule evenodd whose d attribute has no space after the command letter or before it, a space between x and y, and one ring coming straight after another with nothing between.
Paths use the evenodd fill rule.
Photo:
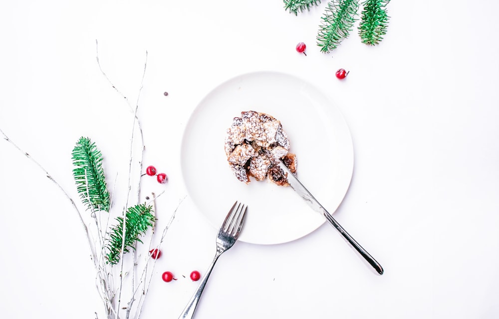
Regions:
<instances>
[{"instance_id":1,"label":"middle of the three green pine sprigs at the top edge","mask_svg":"<svg viewBox=\"0 0 499 319\"><path fill-rule=\"evenodd\" d=\"M329 53L348 37L358 8L358 0L332 0L327 3L317 32L317 45L321 52Z\"/></svg>"}]
</instances>

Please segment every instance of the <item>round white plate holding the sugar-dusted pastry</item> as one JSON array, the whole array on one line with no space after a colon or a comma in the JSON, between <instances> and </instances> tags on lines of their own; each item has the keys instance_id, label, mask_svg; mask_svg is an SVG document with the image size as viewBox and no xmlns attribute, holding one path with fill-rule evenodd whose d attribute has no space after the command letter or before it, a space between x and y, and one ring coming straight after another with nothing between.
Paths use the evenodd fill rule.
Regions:
<instances>
[{"instance_id":1,"label":"round white plate holding the sugar-dusted pastry","mask_svg":"<svg viewBox=\"0 0 499 319\"><path fill-rule=\"evenodd\" d=\"M353 145L340 111L309 83L283 73L255 72L233 78L196 107L182 140L181 163L189 196L217 229L235 201L248 205L239 240L288 242L317 229L325 218L290 187L232 173L224 151L226 130L242 111L278 119L296 154L298 178L328 212L345 196L353 171Z\"/></svg>"}]
</instances>

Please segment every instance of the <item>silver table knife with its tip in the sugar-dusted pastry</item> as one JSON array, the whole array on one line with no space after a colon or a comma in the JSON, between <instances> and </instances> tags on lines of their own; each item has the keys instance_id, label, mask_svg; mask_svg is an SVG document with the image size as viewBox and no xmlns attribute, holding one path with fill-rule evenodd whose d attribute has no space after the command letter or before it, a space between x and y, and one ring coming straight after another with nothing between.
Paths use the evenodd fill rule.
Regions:
<instances>
[{"instance_id":1,"label":"silver table knife with its tip in the sugar-dusted pastry","mask_svg":"<svg viewBox=\"0 0 499 319\"><path fill-rule=\"evenodd\" d=\"M364 257L364 259L378 272L378 274L383 274L383 267L374 259L362 246L353 239L352 236L343 228L341 225L333 218L333 216L313 197L312 194L301 184L301 182L296 178L296 176L291 173L289 168L279 159L277 160L279 167L284 171L284 175L287 175L287 182L291 188L298 193L301 198L303 198L307 204L316 212L321 213L326 217L327 221L340 232L340 234L345 237L346 241L355 249L357 252Z\"/></svg>"}]
</instances>

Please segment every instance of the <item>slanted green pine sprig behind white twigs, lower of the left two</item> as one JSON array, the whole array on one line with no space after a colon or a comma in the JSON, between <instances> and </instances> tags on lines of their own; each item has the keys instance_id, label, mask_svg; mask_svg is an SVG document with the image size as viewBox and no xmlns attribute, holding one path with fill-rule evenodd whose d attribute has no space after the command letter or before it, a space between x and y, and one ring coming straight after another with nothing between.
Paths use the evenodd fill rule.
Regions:
<instances>
[{"instance_id":1,"label":"slanted green pine sprig behind white twigs, lower of the left two","mask_svg":"<svg viewBox=\"0 0 499 319\"><path fill-rule=\"evenodd\" d=\"M112 265L120 261L120 255L135 249L135 242L140 242L139 236L146 233L149 227L152 227L155 218L152 212L152 206L139 204L128 208L125 216L125 227L123 227L123 217L117 217L118 224L109 230L109 243L107 245L107 261ZM123 228L125 228L125 239L123 239Z\"/></svg>"}]
</instances>

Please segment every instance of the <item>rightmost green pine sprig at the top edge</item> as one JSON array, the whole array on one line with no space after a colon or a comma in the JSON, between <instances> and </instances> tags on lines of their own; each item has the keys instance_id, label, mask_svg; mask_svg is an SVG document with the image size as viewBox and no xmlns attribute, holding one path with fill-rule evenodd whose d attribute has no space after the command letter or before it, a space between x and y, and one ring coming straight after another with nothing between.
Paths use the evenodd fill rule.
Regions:
<instances>
[{"instance_id":1,"label":"rightmost green pine sprig at the top edge","mask_svg":"<svg viewBox=\"0 0 499 319\"><path fill-rule=\"evenodd\" d=\"M362 16L359 24L359 35L362 43L376 45L386 34L389 16L386 5L390 0L366 0L362 2Z\"/></svg>"}]
</instances>

